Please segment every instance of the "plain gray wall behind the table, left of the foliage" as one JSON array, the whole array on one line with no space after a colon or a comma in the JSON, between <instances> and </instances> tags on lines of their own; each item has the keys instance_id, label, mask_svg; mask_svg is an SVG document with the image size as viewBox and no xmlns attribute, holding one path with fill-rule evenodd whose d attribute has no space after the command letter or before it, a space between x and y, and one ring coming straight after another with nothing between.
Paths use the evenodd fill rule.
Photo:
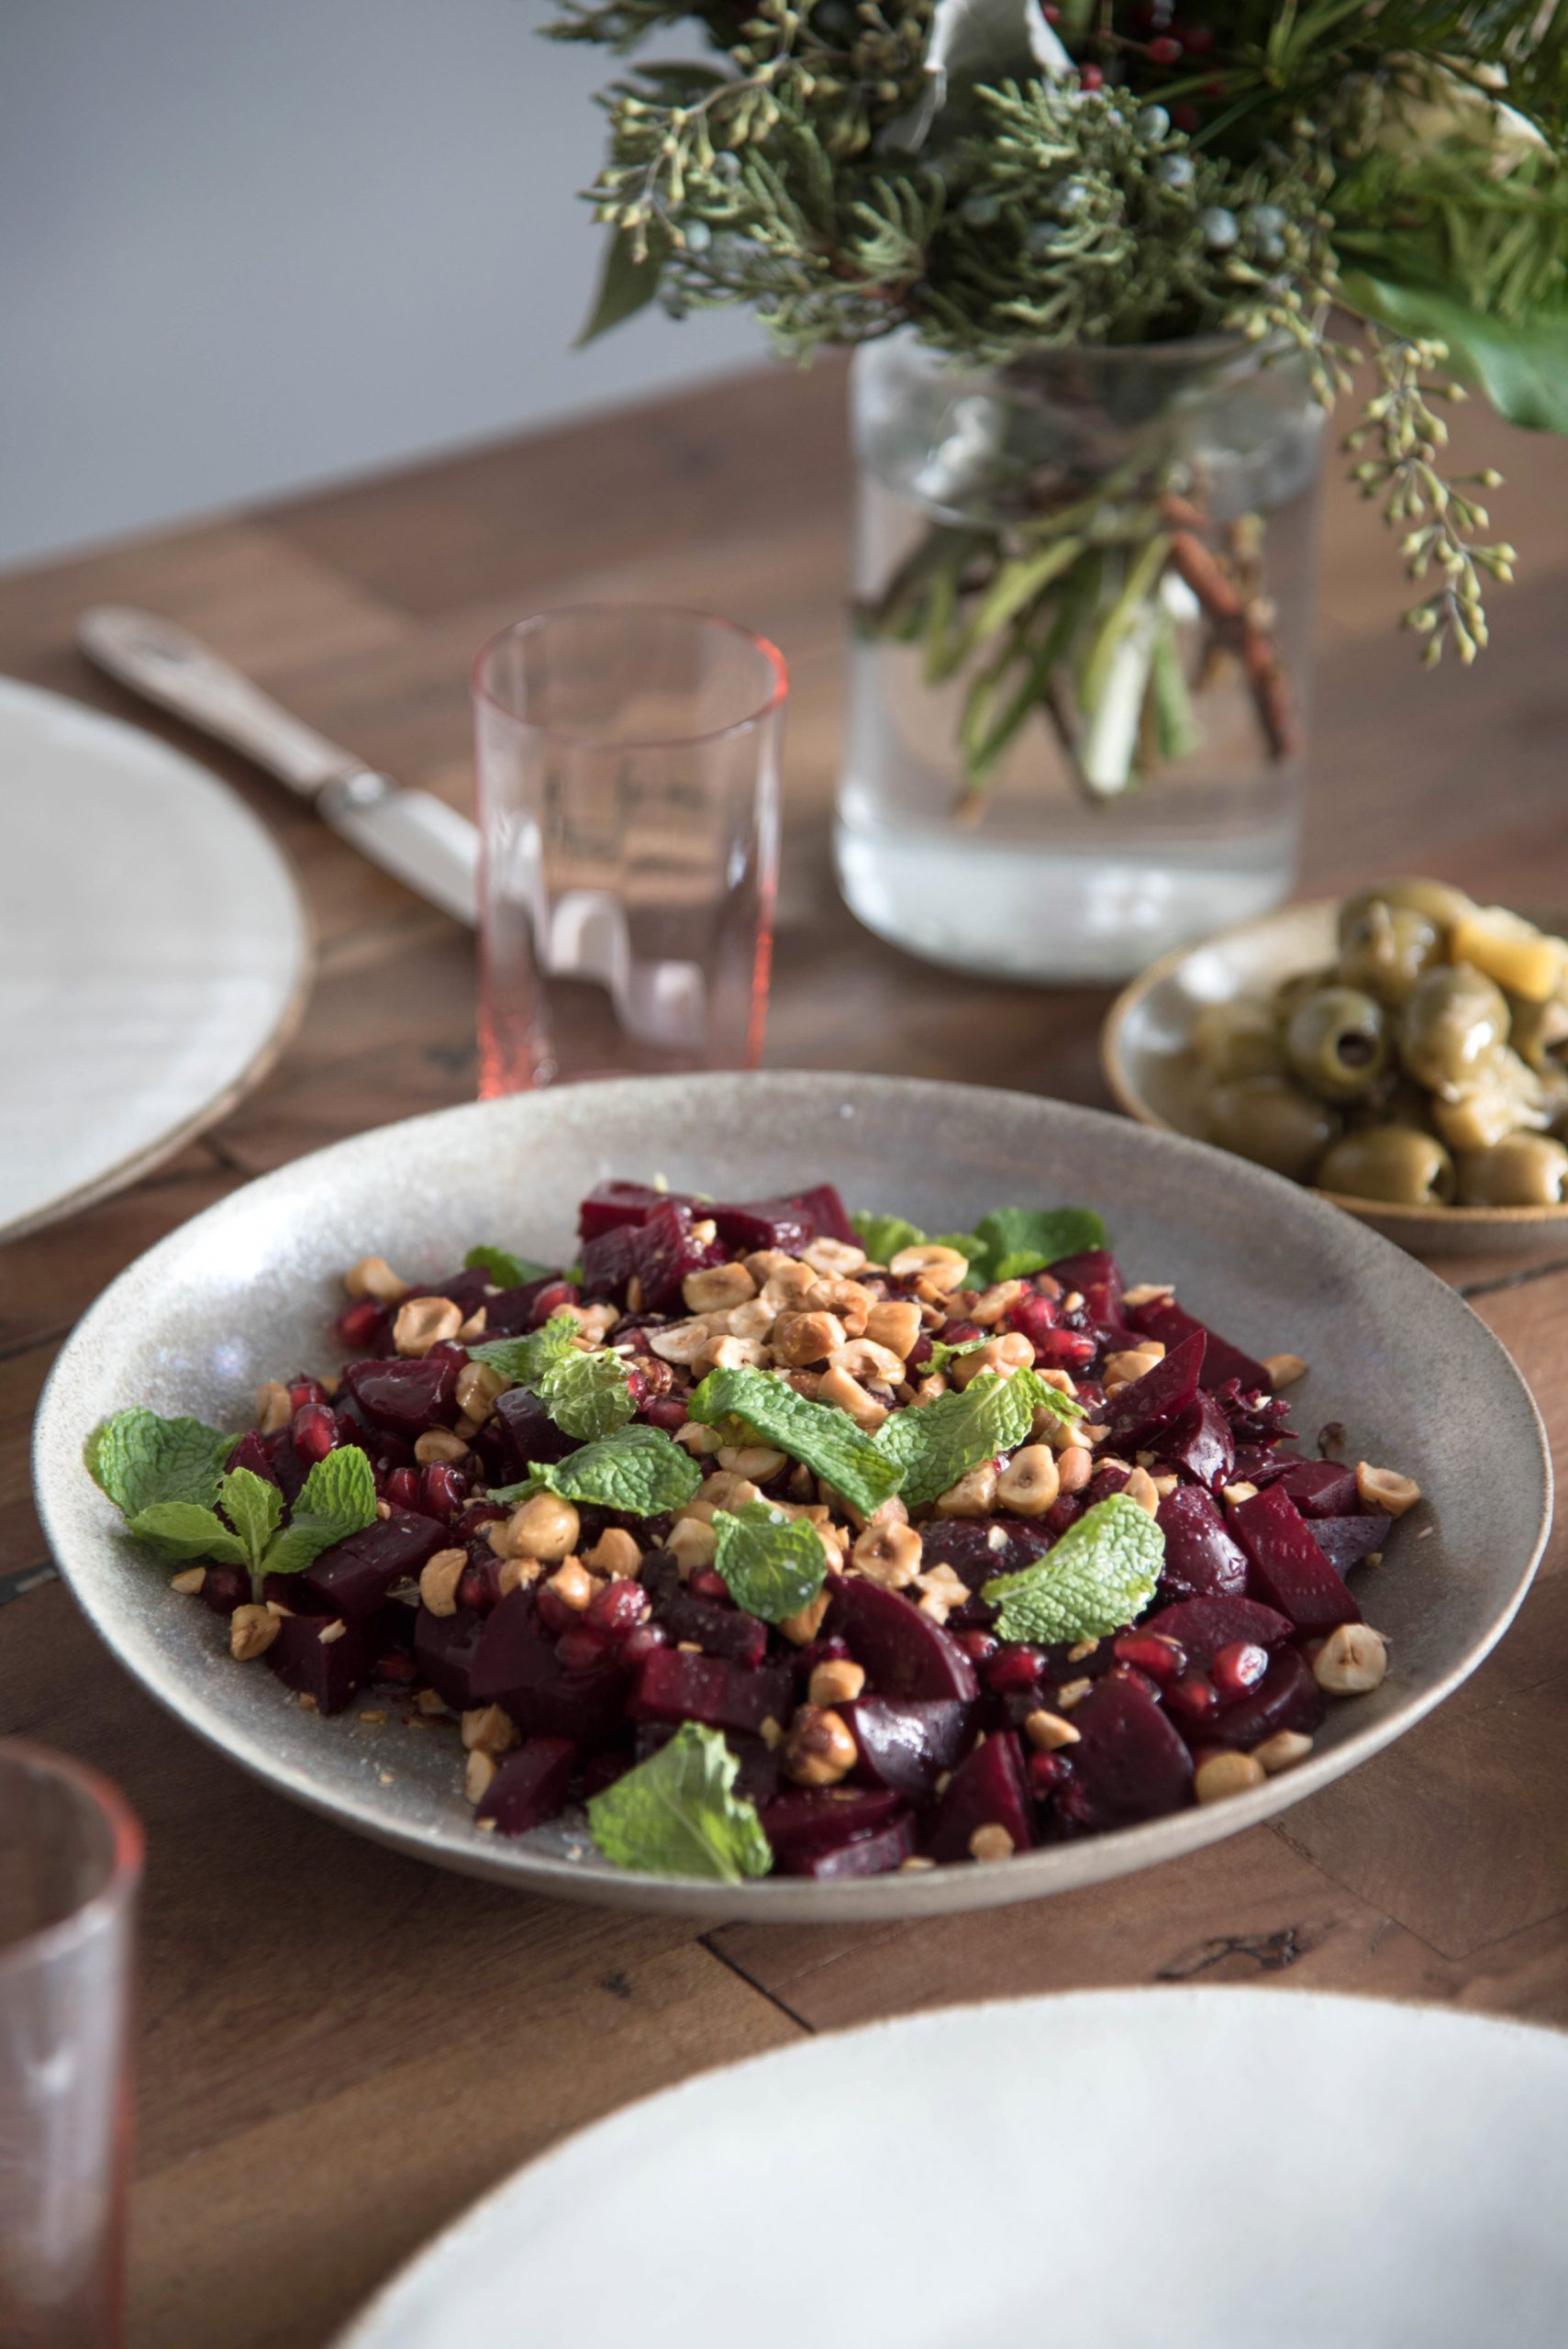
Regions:
<instances>
[{"instance_id":1,"label":"plain gray wall behind the table, left of the foliage","mask_svg":"<svg viewBox=\"0 0 1568 2349\"><path fill-rule=\"evenodd\" d=\"M0 0L0 561L753 364L570 350L613 61L549 14Z\"/></svg>"}]
</instances>

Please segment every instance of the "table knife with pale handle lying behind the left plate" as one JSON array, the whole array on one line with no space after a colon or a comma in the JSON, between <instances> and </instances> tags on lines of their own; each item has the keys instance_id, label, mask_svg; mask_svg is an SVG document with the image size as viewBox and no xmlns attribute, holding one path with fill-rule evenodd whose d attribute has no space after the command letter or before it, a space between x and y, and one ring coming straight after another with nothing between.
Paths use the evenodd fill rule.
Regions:
<instances>
[{"instance_id":1,"label":"table knife with pale handle lying behind the left plate","mask_svg":"<svg viewBox=\"0 0 1568 2349\"><path fill-rule=\"evenodd\" d=\"M479 832L467 815L434 792L406 792L378 775L171 620L94 604L77 620L77 644L122 686L242 749L364 857L474 928Z\"/></svg>"}]
</instances>

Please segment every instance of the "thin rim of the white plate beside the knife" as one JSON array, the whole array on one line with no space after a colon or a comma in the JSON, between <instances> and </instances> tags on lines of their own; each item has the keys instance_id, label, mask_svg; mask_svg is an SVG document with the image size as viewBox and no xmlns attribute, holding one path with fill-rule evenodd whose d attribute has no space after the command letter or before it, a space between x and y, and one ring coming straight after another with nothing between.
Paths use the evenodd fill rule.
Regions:
<instances>
[{"instance_id":1,"label":"thin rim of the white plate beside the knife","mask_svg":"<svg viewBox=\"0 0 1568 2349\"><path fill-rule=\"evenodd\" d=\"M162 1135L155 1135L141 1149L117 1158L113 1165L101 1167L87 1182L54 1193L54 1198L42 1205L28 1207L26 1214L14 1217L9 1224L0 1224L0 1243L5 1243L21 1240L33 1231L42 1231L47 1224L59 1224L61 1217L80 1214L85 1207L94 1207L99 1200L122 1191L141 1174L160 1167L167 1158L174 1158L174 1153L188 1142L195 1142L195 1137L204 1135L209 1125L216 1125L218 1118L228 1116L228 1111L263 1081L268 1069L272 1069L277 1055L300 1024L305 1001L310 996L315 954L310 944L310 923L305 918L305 907L300 902L289 860L282 855L261 817L254 815L239 794L232 792L209 766L202 766L200 759L176 749L171 742L164 742L162 735L148 733L143 726L129 726L124 719L108 716L108 712L94 709L89 702L77 702L68 693L49 693L45 686L31 686L16 677L0 677L0 702L23 712L40 709L42 705L49 716L68 712L73 731L80 731L85 740L101 740L106 759L115 759L115 754L124 754L127 745L134 745L138 763L153 756L167 773L178 773L178 778L200 794L216 822L228 822L235 834L246 836L246 855L254 857L256 864L265 864L270 869L279 904L286 907L286 921L291 928L286 944L289 977L286 984L279 987L279 1010L270 1031L249 1059L244 1059L223 1085L214 1088L214 1092L197 1102L188 1116L164 1128Z\"/></svg>"}]
</instances>

